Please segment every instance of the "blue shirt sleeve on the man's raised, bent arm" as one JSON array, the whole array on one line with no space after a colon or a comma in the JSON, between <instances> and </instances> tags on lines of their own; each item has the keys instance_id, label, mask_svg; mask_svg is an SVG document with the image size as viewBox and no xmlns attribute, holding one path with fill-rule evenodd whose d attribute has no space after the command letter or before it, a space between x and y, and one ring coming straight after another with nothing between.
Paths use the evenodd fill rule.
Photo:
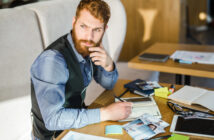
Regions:
<instances>
[{"instance_id":1,"label":"blue shirt sleeve on the man's raised, bent arm","mask_svg":"<svg viewBox=\"0 0 214 140\"><path fill-rule=\"evenodd\" d=\"M101 66L95 67L94 79L105 89L112 89L117 82L118 72L114 63L114 70L111 72L106 71Z\"/></svg>"}]
</instances>

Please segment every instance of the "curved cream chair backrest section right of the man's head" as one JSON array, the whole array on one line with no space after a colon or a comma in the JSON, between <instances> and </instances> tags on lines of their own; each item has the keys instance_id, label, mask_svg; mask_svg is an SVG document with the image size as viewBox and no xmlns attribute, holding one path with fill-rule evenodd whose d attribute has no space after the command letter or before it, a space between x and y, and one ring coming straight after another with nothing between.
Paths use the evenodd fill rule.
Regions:
<instances>
[{"instance_id":1,"label":"curved cream chair backrest section right of the man's head","mask_svg":"<svg viewBox=\"0 0 214 140\"><path fill-rule=\"evenodd\" d=\"M105 0L111 8L111 18L106 30L108 51L116 62L119 58L126 35L126 12L120 0Z\"/></svg>"}]
</instances>

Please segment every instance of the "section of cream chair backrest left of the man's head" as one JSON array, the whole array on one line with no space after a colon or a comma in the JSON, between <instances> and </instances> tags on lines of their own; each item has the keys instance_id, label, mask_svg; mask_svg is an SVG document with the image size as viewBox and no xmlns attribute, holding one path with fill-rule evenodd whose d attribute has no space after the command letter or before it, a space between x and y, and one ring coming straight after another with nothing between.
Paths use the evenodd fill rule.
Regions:
<instances>
[{"instance_id":1,"label":"section of cream chair backrest left of the man's head","mask_svg":"<svg viewBox=\"0 0 214 140\"><path fill-rule=\"evenodd\" d=\"M51 0L24 6L36 13L45 48L62 35L69 33L79 1Z\"/></svg>"}]
</instances>

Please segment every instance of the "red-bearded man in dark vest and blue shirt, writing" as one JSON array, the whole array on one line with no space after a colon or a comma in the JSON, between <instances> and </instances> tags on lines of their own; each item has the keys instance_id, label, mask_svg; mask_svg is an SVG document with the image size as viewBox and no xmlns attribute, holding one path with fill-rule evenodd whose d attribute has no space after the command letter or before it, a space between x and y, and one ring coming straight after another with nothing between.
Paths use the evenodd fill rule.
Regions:
<instances>
[{"instance_id":1,"label":"red-bearded man in dark vest and blue shirt, writing","mask_svg":"<svg viewBox=\"0 0 214 140\"><path fill-rule=\"evenodd\" d=\"M109 18L110 10L103 0L82 0L73 18L73 30L52 43L33 63L33 138L49 140L60 130L121 120L131 113L129 102L84 108L92 77L106 89L112 89L118 78L114 62L101 44Z\"/></svg>"}]
</instances>

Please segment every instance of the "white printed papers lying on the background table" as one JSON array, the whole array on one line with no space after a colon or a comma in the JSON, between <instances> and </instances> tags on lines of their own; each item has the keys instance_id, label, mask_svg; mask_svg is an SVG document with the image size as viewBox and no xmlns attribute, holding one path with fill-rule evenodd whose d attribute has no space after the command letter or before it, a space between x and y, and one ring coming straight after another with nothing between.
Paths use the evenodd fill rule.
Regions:
<instances>
[{"instance_id":1,"label":"white printed papers lying on the background table","mask_svg":"<svg viewBox=\"0 0 214 140\"><path fill-rule=\"evenodd\" d=\"M171 56L173 60L184 60L192 63L214 64L214 53L197 51L175 51Z\"/></svg>"}]
</instances>

